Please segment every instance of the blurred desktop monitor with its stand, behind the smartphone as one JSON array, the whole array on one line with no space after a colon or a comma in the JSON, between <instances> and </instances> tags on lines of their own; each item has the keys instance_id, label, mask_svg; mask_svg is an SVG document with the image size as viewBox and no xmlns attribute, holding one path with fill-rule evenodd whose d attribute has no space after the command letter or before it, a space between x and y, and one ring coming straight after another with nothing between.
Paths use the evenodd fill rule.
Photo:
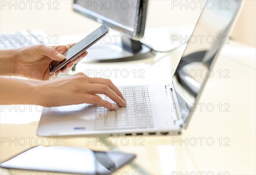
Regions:
<instances>
[{"instance_id":1,"label":"blurred desktop monitor with its stand, behind the smartphone","mask_svg":"<svg viewBox=\"0 0 256 175\"><path fill-rule=\"evenodd\" d=\"M120 32L117 40L120 42L88 49L86 61L129 61L153 56L154 52L140 42L145 31L147 7L148 0L74 0L74 11Z\"/></svg>"}]
</instances>

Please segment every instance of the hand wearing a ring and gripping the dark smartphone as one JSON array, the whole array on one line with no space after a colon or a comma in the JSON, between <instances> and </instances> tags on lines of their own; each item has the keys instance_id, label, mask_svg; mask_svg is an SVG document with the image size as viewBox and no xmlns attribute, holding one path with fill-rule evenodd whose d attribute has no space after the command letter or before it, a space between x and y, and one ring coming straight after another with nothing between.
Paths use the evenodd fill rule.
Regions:
<instances>
[{"instance_id":1,"label":"hand wearing a ring and gripping the dark smartphone","mask_svg":"<svg viewBox=\"0 0 256 175\"><path fill-rule=\"evenodd\" d=\"M74 45L74 43L70 44L70 47ZM78 63L87 55L87 52L84 52L60 70L50 74L49 63L52 60L64 60L64 55L61 55L64 52L66 52L66 46L34 45L19 48L15 50L14 72L20 72L18 76L34 80L50 80L58 77L60 73L70 72L74 63Z\"/></svg>"}]
</instances>

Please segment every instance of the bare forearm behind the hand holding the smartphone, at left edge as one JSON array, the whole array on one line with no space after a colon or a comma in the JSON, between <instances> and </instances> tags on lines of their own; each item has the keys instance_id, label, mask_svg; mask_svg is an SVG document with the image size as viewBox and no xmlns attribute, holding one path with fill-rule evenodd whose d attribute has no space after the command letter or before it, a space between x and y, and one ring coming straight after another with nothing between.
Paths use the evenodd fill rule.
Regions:
<instances>
[{"instance_id":1,"label":"bare forearm behind the hand holding the smartphone, at left edge","mask_svg":"<svg viewBox=\"0 0 256 175\"><path fill-rule=\"evenodd\" d=\"M0 75L9 76L14 70L16 49L0 50Z\"/></svg>"}]
</instances>

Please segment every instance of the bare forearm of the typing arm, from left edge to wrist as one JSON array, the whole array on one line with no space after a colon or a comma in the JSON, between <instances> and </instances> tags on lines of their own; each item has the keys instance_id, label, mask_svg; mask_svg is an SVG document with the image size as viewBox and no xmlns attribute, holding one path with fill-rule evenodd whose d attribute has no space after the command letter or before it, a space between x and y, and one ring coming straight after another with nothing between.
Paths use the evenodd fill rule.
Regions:
<instances>
[{"instance_id":1,"label":"bare forearm of the typing arm, from left edge to wrist","mask_svg":"<svg viewBox=\"0 0 256 175\"><path fill-rule=\"evenodd\" d=\"M38 104L40 81L0 78L0 104Z\"/></svg>"}]
</instances>

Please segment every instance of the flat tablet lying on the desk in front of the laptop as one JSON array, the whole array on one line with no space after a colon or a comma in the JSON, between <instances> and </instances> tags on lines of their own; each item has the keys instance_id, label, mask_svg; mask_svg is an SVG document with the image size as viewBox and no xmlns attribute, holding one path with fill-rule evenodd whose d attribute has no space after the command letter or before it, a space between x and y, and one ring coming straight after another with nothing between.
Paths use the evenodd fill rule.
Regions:
<instances>
[{"instance_id":1,"label":"flat tablet lying on the desk in front of the laptop","mask_svg":"<svg viewBox=\"0 0 256 175\"><path fill-rule=\"evenodd\" d=\"M111 174L136 156L123 152L96 152L87 148L38 146L2 163L3 168L79 174Z\"/></svg>"}]
</instances>

